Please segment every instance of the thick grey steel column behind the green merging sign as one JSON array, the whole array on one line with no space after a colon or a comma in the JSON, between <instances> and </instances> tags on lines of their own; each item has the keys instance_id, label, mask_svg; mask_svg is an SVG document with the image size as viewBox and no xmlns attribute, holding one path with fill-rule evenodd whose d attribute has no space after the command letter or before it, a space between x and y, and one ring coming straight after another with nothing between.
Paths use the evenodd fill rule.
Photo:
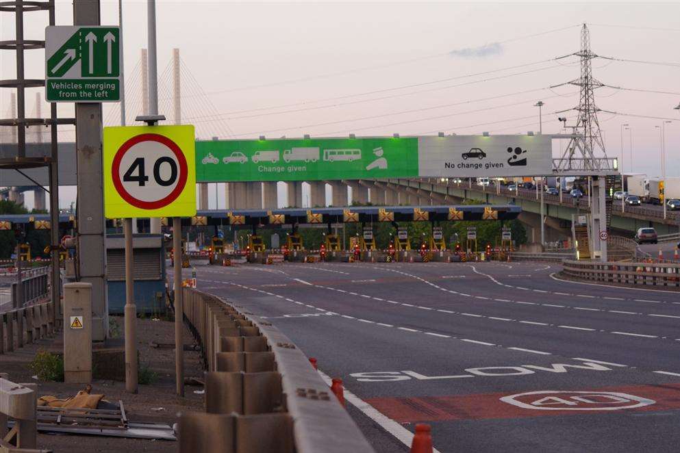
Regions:
<instances>
[{"instance_id":1,"label":"thick grey steel column behind the green merging sign","mask_svg":"<svg viewBox=\"0 0 680 453\"><path fill-rule=\"evenodd\" d=\"M74 0L74 25L99 25L99 0ZM78 272L92 283L92 340L108 337L106 248L101 155L101 103L75 105Z\"/></svg>"}]
</instances>

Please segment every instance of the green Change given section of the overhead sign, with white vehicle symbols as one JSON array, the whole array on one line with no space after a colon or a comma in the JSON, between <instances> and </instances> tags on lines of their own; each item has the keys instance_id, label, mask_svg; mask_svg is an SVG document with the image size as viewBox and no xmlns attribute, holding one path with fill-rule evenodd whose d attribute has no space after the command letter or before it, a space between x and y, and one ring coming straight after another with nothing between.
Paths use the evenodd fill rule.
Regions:
<instances>
[{"instance_id":1,"label":"green Change given section of the overhead sign, with white vehicle symbols","mask_svg":"<svg viewBox=\"0 0 680 453\"><path fill-rule=\"evenodd\" d=\"M196 181L318 181L418 176L418 138L196 142Z\"/></svg>"}]
</instances>

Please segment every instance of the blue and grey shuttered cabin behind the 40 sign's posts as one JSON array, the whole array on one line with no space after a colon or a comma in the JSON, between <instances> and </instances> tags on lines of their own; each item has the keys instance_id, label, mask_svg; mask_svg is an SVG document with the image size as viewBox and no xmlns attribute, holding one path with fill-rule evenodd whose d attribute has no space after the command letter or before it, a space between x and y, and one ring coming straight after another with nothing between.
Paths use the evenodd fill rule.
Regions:
<instances>
[{"instance_id":1,"label":"blue and grey shuttered cabin behind the 40 sign's posts","mask_svg":"<svg viewBox=\"0 0 680 453\"><path fill-rule=\"evenodd\" d=\"M164 313L165 248L163 235L136 234L134 250L134 294L137 313ZM123 314L125 308L125 237L106 236L106 271L109 313Z\"/></svg>"}]
</instances>

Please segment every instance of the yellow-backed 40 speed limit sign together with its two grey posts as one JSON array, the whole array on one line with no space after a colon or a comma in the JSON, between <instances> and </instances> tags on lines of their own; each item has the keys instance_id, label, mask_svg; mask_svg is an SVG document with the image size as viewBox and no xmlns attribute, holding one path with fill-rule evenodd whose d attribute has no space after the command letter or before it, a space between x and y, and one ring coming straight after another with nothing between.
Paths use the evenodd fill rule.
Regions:
<instances>
[{"instance_id":1,"label":"yellow-backed 40 speed limit sign together with its two grey posts","mask_svg":"<svg viewBox=\"0 0 680 453\"><path fill-rule=\"evenodd\" d=\"M194 127L151 125L161 119L149 118L149 126L104 129L104 212L107 218L125 219L125 388L133 393L138 379L131 219L173 217L175 359L177 394L183 396L183 307L177 252L181 253L181 217L196 215Z\"/></svg>"}]
</instances>

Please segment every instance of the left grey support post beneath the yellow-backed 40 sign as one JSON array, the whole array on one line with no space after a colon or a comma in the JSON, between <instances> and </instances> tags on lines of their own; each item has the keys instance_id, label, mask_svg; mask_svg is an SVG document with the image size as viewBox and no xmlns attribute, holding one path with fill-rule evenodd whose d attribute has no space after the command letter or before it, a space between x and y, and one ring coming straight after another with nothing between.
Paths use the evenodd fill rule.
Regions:
<instances>
[{"instance_id":1,"label":"left grey support post beneath the yellow-backed 40 sign","mask_svg":"<svg viewBox=\"0 0 680 453\"><path fill-rule=\"evenodd\" d=\"M137 393L137 306L135 305L132 219L123 219L125 230L125 390Z\"/></svg>"}]
</instances>

